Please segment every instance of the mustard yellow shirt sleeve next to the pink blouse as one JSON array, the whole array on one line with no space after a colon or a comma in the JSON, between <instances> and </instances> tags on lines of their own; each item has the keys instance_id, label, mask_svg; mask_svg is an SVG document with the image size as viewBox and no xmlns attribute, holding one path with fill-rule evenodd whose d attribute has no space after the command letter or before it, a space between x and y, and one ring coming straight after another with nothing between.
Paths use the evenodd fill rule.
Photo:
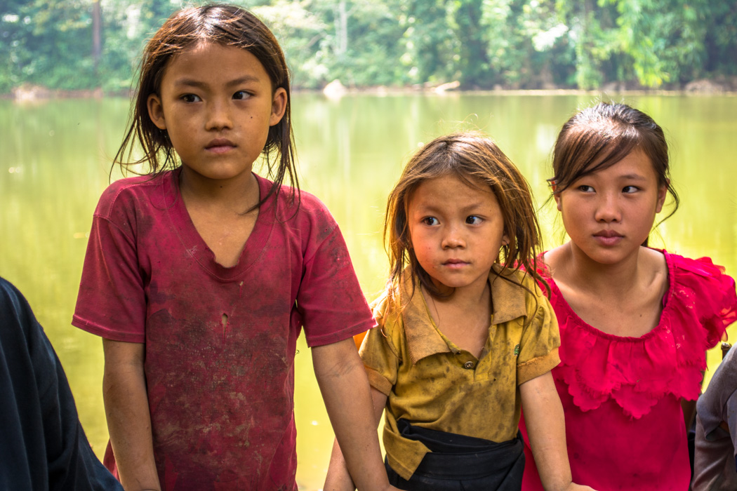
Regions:
<instances>
[{"instance_id":1,"label":"mustard yellow shirt sleeve next to the pink blouse","mask_svg":"<svg viewBox=\"0 0 737 491\"><path fill-rule=\"evenodd\" d=\"M523 328L520 354L517 356L518 385L553 370L560 363L558 320L551 303L539 288L534 291L537 294L529 294L525 300L527 310L534 309L535 315Z\"/></svg>"}]
</instances>

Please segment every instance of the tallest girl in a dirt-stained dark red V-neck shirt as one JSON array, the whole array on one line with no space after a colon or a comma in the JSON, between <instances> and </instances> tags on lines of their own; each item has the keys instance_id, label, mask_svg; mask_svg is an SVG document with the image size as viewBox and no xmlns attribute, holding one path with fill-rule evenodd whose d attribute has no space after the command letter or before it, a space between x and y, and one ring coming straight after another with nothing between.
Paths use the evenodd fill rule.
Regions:
<instances>
[{"instance_id":1,"label":"tallest girl in a dirt-stained dark red V-neck shirt","mask_svg":"<svg viewBox=\"0 0 737 491\"><path fill-rule=\"evenodd\" d=\"M229 5L172 15L115 161L148 172L102 194L72 323L103 338L105 461L125 489L296 490L302 327L352 475L391 489L352 340L374 322L338 226L299 191L269 29Z\"/></svg>"}]
</instances>

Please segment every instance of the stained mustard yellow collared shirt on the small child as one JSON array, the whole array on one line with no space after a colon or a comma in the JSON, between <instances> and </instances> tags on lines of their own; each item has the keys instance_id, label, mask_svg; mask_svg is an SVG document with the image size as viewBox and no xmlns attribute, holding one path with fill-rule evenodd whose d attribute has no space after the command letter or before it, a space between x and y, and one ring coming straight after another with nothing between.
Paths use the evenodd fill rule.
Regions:
<instances>
[{"instance_id":1,"label":"stained mustard yellow collared shirt on the small child","mask_svg":"<svg viewBox=\"0 0 737 491\"><path fill-rule=\"evenodd\" d=\"M481 358L439 331L419 284L401 314L390 310L386 294L371 305L379 327L368 331L360 355L371 386L388 397L384 448L402 478L411 478L430 450L400 437L397 420L506 442L517 436L520 384L560 362L558 323L548 299L528 275L513 273L534 294L500 274L496 265L489 274L494 311ZM410 292L405 283L402 304Z\"/></svg>"}]
</instances>

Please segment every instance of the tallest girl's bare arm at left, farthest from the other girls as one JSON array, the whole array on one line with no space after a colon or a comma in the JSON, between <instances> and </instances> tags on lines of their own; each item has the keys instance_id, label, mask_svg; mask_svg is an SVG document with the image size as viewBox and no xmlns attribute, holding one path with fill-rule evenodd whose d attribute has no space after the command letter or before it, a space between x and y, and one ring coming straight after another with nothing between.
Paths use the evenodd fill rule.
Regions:
<instances>
[{"instance_id":1,"label":"tallest girl's bare arm at left, farthest from the other girls","mask_svg":"<svg viewBox=\"0 0 737 491\"><path fill-rule=\"evenodd\" d=\"M144 345L102 340L102 398L120 482L125 491L161 490L153 458Z\"/></svg>"}]
</instances>

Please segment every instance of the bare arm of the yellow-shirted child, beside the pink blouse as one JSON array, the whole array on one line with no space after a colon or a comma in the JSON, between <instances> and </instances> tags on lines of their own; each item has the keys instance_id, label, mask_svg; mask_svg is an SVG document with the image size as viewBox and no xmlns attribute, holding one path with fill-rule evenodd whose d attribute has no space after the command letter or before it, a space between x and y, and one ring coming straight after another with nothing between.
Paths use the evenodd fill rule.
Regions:
<instances>
[{"instance_id":1,"label":"bare arm of the yellow-shirted child, beside the pink blouse","mask_svg":"<svg viewBox=\"0 0 737 491\"><path fill-rule=\"evenodd\" d=\"M565 444L563 406L551 372L520 385L525 425L537 471L546 491L591 490L573 484Z\"/></svg>"}]
</instances>

